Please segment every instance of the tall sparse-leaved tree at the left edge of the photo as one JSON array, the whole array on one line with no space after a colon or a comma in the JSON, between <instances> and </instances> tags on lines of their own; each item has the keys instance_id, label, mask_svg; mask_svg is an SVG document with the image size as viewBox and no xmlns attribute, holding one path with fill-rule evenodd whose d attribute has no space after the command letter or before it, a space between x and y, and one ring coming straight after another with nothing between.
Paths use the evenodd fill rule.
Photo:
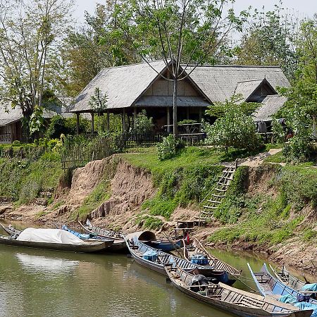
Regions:
<instances>
[{"instance_id":1,"label":"tall sparse-leaved tree at the left edge of the photo","mask_svg":"<svg viewBox=\"0 0 317 317\"><path fill-rule=\"evenodd\" d=\"M49 61L57 54L71 8L68 0L0 3L0 102L21 108L27 136L32 113L42 106L43 92L50 85Z\"/></svg>"}]
</instances>

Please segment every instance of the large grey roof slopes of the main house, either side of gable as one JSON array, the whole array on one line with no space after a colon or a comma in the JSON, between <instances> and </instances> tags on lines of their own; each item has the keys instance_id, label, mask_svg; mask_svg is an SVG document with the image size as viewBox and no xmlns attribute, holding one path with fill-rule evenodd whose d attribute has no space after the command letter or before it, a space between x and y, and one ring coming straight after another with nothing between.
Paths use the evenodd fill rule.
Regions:
<instances>
[{"instance_id":1,"label":"large grey roof slopes of the main house, either side of gable","mask_svg":"<svg viewBox=\"0 0 317 317\"><path fill-rule=\"evenodd\" d=\"M151 66L159 73L166 71L163 61L153 61ZM167 101L170 102L170 100L162 99L161 96L159 98L155 96L144 98L142 96L159 78L159 75L152 68L147 63L104 68L75 98L73 106L70 106L70 111L92 111L89 99L97 87L108 95L109 109L141 105L170 106L170 103L167 104ZM190 73L190 68L187 69L187 73ZM214 103L230 99L236 90L242 92L247 99L247 94L254 92L254 89L259 87L264 78L274 89L278 86L290 87L290 82L282 70L271 66L199 66L190 74L189 80L199 89L201 95L206 99L206 103L209 101ZM242 82L245 83L242 84ZM149 104L145 104L145 101L148 101ZM195 104L190 105L195 106Z\"/></svg>"}]
</instances>

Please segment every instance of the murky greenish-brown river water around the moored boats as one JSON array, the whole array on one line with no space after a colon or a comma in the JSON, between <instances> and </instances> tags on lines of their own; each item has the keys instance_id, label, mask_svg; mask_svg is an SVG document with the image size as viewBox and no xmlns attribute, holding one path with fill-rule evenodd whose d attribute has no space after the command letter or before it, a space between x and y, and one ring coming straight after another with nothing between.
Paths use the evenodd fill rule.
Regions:
<instances>
[{"instance_id":1,"label":"murky greenish-brown river water around the moored boats","mask_svg":"<svg viewBox=\"0 0 317 317\"><path fill-rule=\"evenodd\" d=\"M16 224L15 224L16 225ZM0 231L0 234L4 232ZM258 270L252 254L211 250L243 269ZM247 290L241 282L235 287ZM201 304L158 273L123 254L75 254L0 245L0 317L20 316L232 316Z\"/></svg>"}]
</instances>

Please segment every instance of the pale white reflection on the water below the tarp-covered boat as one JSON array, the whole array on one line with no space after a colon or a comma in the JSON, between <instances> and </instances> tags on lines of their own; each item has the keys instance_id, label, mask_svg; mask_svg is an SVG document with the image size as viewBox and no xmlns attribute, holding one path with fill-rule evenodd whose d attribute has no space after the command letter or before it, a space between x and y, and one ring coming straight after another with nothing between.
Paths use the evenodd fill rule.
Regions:
<instances>
[{"instance_id":1,"label":"pale white reflection on the water below the tarp-covered boat","mask_svg":"<svg viewBox=\"0 0 317 317\"><path fill-rule=\"evenodd\" d=\"M15 256L26 273L44 273L46 278L54 278L58 273L70 273L80 263L79 261L35 256L26 253L17 253Z\"/></svg>"}]
</instances>

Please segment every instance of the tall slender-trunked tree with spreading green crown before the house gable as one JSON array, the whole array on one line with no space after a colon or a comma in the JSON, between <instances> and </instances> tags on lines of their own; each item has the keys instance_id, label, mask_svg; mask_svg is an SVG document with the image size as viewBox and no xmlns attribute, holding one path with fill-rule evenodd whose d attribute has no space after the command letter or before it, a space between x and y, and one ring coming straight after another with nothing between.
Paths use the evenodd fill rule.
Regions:
<instances>
[{"instance_id":1,"label":"tall slender-trunked tree with spreading green crown before the house gable","mask_svg":"<svg viewBox=\"0 0 317 317\"><path fill-rule=\"evenodd\" d=\"M173 135L178 134L178 82L201 63L213 63L232 30L242 30L247 12L235 15L231 0L128 0L116 6L120 38L139 59L163 58L173 82ZM172 63L170 63L172 61ZM181 67L181 64L184 66ZM150 65L149 65L150 66ZM151 67L151 66L150 66Z\"/></svg>"}]
</instances>

